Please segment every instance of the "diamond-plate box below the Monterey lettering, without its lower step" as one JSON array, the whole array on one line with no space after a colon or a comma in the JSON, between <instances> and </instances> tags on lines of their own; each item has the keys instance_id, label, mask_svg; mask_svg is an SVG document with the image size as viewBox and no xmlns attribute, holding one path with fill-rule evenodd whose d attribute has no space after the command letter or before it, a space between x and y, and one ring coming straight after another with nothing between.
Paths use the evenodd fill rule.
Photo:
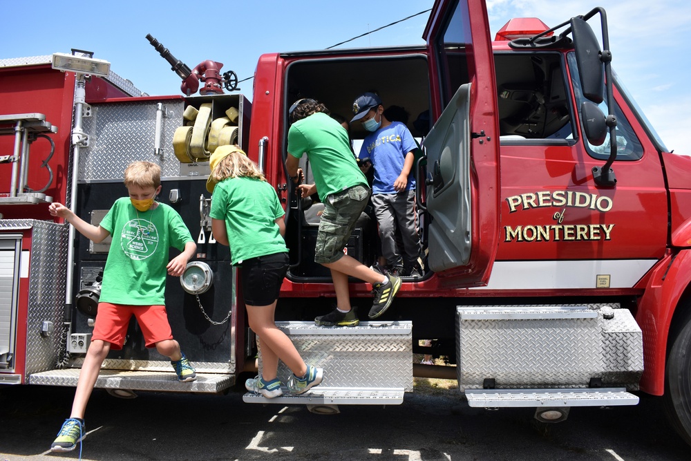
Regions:
<instances>
[{"instance_id":1,"label":"diamond-plate box below the Monterey lettering, without its lower step","mask_svg":"<svg viewBox=\"0 0 691 461\"><path fill-rule=\"evenodd\" d=\"M636 383L643 346L630 313L615 310L615 319L605 320L601 305L587 305L584 311L597 312L596 317L560 318L566 307L484 306L502 318L470 320L462 319L464 309L480 306L458 308L460 388L482 388L486 378L494 378L498 388L587 387L592 377L602 377L608 386ZM507 318L540 310L557 318Z\"/></svg>"}]
</instances>

